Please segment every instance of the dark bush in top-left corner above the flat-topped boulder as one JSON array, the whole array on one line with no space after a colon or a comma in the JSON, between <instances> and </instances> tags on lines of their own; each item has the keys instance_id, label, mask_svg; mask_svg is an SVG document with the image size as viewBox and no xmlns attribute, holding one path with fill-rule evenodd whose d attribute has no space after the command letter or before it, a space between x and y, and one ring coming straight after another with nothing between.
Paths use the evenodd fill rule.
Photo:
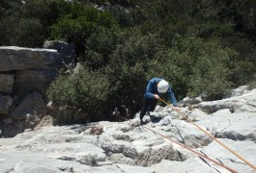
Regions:
<instances>
[{"instance_id":1,"label":"dark bush in top-left corner above the flat-topped boulder","mask_svg":"<svg viewBox=\"0 0 256 173\"><path fill-rule=\"evenodd\" d=\"M69 12L65 0L1 1L1 45L40 47L49 37L50 26Z\"/></svg>"}]
</instances>

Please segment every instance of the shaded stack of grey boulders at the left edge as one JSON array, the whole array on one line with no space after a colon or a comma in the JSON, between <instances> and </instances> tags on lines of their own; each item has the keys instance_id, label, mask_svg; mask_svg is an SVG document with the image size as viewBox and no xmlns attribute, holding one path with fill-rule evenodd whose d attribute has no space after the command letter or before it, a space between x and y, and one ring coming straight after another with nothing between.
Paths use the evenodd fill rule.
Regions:
<instances>
[{"instance_id":1,"label":"shaded stack of grey boulders at the left edge","mask_svg":"<svg viewBox=\"0 0 256 173\"><path fill-rule=\"evenodd\" d=\"M51 41L46 42L49 45ZM46 90L63 67L63 59L74 62L72 44L53 42L55 46L36 49L0 47L0 119L4 119L0 121L0 129L3 136L12 137L37 125L46 112Z\"/></svg>"}]
</instances>

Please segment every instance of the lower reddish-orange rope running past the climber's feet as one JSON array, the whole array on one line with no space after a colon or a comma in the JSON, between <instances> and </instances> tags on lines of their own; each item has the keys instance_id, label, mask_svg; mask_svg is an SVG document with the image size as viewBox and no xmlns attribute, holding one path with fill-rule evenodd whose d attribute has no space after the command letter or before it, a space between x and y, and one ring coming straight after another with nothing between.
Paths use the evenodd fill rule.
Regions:
<instances>
[{"instance_id":1,"label":"lower reddish-orange rope running past the climber's feet","mask_svg":"<svg viewBox=\"0 0 256 173\"><path fill-rule=\"evenodd\" d=\"M119 115L117 115L117 116L119 116ZM132 126L132 123L130 122L129 119L127 119L127 118L125 118L125 117L122 117L122 116L119 116L119 117L122 118L122 119L125 119L126 121L129 121L130 126ZM221 167L224 167L225 169L229 170L229 171L232 172L232 173L238 173L238 171L236 171L236 170L234 170L234 169L232 169L232 168L230 168L230 167L224 165L223 163L219 163L218 161L214 161L213 159L211 159L211 158L209 158L209 157L207 157L207 156L205 156L205 155L202 155L201 153L199 153L199 152L197 152L197 151L192 150L191 148L185 146L184 144L182 144L182 143L180 143L180 142L178 142L178 141L175 141L175 140L171 139L171 138L168 137L168 136L163 136L163 135L157 133L156 131L154 131L154 130L152 130L152 129L150 129L150 128L147 128L147 127L145 127L145 126L143 126L143 128L145 128L145 129L147 129L147 130L149 130L149 131L151 131L151 132L157 134L158 136L162 136L162 137L164 137L164 138L166 138L166 139L168 139L168 140L170 140L170 141L172 141L172 142L174 142L174 143L176 143L176 144L178 144L178 145L184 147L185 149L189 150L190 152L193 152L194 154L199 155L199 157L202 157L202 158L204 158L204 159L206 159L206 160L209 160L209 161L213 161L215 164L218 164L218 165L220 165Z\"/></svg>"}]
</instances>

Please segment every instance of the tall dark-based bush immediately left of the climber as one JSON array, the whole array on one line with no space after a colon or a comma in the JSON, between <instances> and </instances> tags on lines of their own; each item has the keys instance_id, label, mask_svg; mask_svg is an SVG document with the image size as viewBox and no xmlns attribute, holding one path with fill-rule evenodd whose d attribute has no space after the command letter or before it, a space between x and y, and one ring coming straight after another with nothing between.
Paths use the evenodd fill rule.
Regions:
<instances>
[{"instance_id":1,"label":"tall dark-based bush immediately left of the climber","mask_svg":"<svg viewBox=\"0 0 256 173\"><path fill-rule=\"evenodd\" d=\"M154 36L142 36L139 32L122 35L120 44L110 55L105 74L111 84L111 97L119 95L126 98L130 111L139 111L144 89L147 83L148 61L155 58L160 49ZM121 37L119 39L121 39Z\"/></svg>"}]
</instances>

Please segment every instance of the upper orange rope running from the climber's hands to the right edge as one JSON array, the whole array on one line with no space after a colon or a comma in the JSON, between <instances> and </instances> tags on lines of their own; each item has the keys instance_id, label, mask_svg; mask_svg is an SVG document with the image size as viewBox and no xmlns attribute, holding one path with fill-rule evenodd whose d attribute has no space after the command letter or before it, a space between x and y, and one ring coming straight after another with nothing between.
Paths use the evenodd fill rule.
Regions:
<instances>
[{"instance_id":1,"label":"upper orange rope running from the climber's hands to the right edge","mask_svg":"<svg viewBox=\"0 0 256 173\"><path fill-rule=\"evenodd\" d=\"M173 106L166 103L164 100L162 100L161 98L159 98L160 101L162 101L163 103L165 103L167 106L169 106L171 109L173 109ZM249 165L250 167L252 167L253 169L256 170L256 166L253 165L252 163L250 163L249 161L246 161L244 158L242 158L242 156L240 156L238 153L236 153L235 151L231 150L230 148L228 148L226 145L224 145L222 142L220 142L219 140L217 140L214 136L212 136L211 134L209 134L207 131L205 131L204 129L202 129L201 127L199 127L197 124L195 124L193 121L191 121L190 119L187 118L187 115L185 113L181 113L182 116L187 119L188 122L192 123L194 126L196 126L198 129L200 129L201 131L203 131L206 135L210 136L211 138L213 138L213 140L215 140L218 144L220 144L221 146L223 146L224 148L226 148L228 151L230 151L231 153L233 153L235 156L237 156L239 159L241 159L242 161L244 161L247 165Z\"/></svg>"}]
</instances>

